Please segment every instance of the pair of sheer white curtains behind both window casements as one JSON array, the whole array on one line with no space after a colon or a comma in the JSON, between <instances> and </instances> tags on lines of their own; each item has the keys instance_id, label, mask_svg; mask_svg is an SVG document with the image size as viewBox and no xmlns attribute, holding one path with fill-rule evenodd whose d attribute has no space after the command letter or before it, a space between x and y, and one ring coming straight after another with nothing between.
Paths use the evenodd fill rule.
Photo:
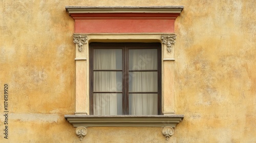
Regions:
<instances>
[{"instance_id":1,"label":"pair of sheer white curtains behind both window casements","mask_svg":"<svg viewBox=\"0 0 256 143\"><path fill-rule=\"evenodd\" d=\"M94 69L117 69L115 50L94 50ZM119 68L119 67L118 67ZM129 50L129 69L156 70L157 50L138 49ZM94 92L122 91L118 83L122 81L121 71L93 71ZM120 76L118 76L120 72ZM130 71L129 92L157 92L157 71ZM120 78L119 78L120 77ZM157 114L157 93L130 93L130 114L151 115ZM94 115L121 114L121 93L94 93ZM120 109L119 109L120 108Z\"/></svg>"}]
</instances>

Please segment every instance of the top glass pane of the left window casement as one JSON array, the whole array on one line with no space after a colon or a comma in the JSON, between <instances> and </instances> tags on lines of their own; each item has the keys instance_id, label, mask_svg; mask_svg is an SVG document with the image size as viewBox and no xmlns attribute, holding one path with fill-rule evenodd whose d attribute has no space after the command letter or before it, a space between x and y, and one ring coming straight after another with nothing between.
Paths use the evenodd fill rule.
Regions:
<instances>
[{"instance_id":1,"label":"top glass pane of the left window casement","mask_svg":"<svg viewBox=\"0 0 256 143\"><path fill-rule=\"evenodd\" d=\"M121 49L94 49L94 69L122 69Z\"/></svg>"}]
</instances>

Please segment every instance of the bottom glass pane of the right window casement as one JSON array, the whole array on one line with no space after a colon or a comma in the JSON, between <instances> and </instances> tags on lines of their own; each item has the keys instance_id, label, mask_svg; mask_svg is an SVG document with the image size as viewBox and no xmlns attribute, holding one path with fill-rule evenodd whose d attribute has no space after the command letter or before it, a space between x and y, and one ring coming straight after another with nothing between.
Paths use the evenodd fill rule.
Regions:
<instances>
[{"instance_id":1,"label":"bottom glass pane of the right window casement","mask_svg":"<svg viewBox=\"0 0 256 143\"><path fill-rule=\"evenodd\" d=\"M156 93L129 94L130 115L157 115Z\"/></svg>"}]
</instances>

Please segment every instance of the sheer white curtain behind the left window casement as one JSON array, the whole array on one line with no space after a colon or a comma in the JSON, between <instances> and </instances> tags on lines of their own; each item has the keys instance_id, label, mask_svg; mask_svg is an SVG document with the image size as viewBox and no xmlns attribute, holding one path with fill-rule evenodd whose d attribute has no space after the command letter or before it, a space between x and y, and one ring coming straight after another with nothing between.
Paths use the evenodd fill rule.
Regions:
<instances>
[{"instance_id":1,"label":"sheer white curtain behind the left window casement","mask_svg":"<svg viewBox=\"0 0 256 143\"><path fill-rule=\"evenodd\" d=\"M116 69L115 50L94 50L94 69ZM93 87L95 92L117 90L116 71L94 71ZM94 115L116 115L117 93L94 93Z\"/></svg>"}]
</instances>

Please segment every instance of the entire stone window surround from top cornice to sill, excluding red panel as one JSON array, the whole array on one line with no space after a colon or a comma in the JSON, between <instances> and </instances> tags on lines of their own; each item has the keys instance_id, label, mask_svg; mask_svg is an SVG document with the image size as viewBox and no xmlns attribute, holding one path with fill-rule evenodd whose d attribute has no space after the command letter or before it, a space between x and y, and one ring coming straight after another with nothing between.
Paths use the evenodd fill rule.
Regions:
<instances>
[{"instance_id":1,"label":"entire stone window surround from top cornice to sill, excluding red panel","mask_svg":"<svg viewBox=\"0 0 256 143\"><path fill-rule=\"evenodd\" d=\"M183 6L155 7L84 7L67 6L66 11L75 20L87 19L176 19ZM92 16L90 14L96 14ZM100 15L103 13L105 15ZM119 13L121 16L112 14ZM124 15L126 13L126 15ZM127 13L133 13L127 15ZM150 14L149 17L148 15ZM88 16L89 15L89 16ZM124 17L123 17L124 16ZM166 23L163 23L166 26ZM168 24L167 24L168 25ZM86 25L83 25L86 26ZM168 25L174 26L174 23ZM163 127L162 134L166 140L174 134L174 128L184 115L175 114L175 40L174 29L158 27L158 31L169 33L75 33L76 44L76 106L75 115L65 115L82 140L87 134L86 127ZM79 29L79 26L78 26ZM86 32L81 31L81 32ZM113 31L115 32L115 31ZM151 33L150 33L151 32ZM173 32L173 33L172 33ZM161 44L161 103L162 115L89 115L89 43L90 42L160 42Z\"/></svg>"}]
</instances>

